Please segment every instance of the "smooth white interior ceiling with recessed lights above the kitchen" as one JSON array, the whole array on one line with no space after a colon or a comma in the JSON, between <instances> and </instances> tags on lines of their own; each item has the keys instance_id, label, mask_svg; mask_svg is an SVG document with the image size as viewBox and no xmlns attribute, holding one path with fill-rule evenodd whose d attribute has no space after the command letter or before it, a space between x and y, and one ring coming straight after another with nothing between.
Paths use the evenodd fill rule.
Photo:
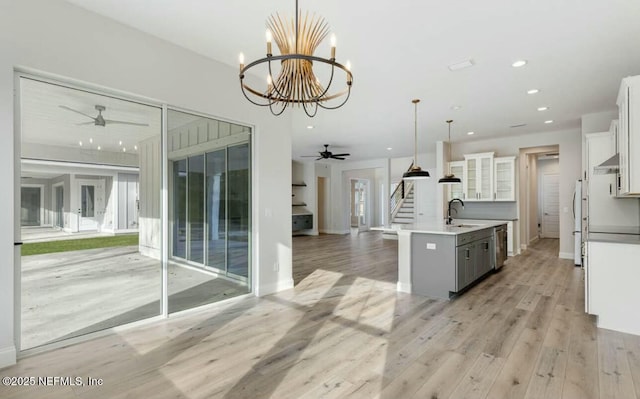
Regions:
<instances>
[{"instance_id":1,"label":"smooth white interior ceiling with recessed lights above the kitchen","mask_svg":"<svg viewBox=\"0 0 640 399\"><path fill-rule=\"evenodd\" d=\"M265 20L292 15L295 4L68 1L234 67L240 52L247 63L264 56ZM325 143L352 159L410 156L413 98L422 100L420 152L446 139L447 119L454 142L577 129L581 115L615 109L620 79L640 74L637 0L302 0L300 8L328 21L354 85L338 110L313 119L293 111L294 158ZM326 41L316 55L328 56ZM448 70L467 59L475 66ZM529 63L512 68L518 59ZM540 93L528 95L532 88ZM510 127L518 124L526 126Z\"/></svg>"}]
</instances>

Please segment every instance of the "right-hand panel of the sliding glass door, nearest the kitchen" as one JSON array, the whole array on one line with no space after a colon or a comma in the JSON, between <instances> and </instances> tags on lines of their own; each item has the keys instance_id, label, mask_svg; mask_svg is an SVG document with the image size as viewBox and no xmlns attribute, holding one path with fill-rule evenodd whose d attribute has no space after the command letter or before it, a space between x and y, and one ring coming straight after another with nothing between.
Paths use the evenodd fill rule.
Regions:
<instances>
[{"instance_id":1,"label":"right-hand panel of the sliding glass door, nearest the kitchen","mask_svg":"<svg viewBox=\"0 0 640 399\"><path fill-rule=\"evenodd\" d=\"M168 126L171 312L250 291L251 152L248 127L173 110Z\"/></svg>"}]
</instances>

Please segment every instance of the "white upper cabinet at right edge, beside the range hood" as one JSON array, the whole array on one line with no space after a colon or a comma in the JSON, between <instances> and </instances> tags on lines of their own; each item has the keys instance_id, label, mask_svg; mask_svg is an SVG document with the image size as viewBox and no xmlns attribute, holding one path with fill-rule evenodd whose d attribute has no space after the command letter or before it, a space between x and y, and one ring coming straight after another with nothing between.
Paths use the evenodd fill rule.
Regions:
<instances>
[{"instance_id":1,"label":"white upper cabinet at right edge, beside the range hood","mask_svg":"<svg viewBox=\"0 0 640 399\"><path fill-rule=\"evenodd\" d=\"M640 76L622 80L618 116L620 195L640 196Z\"/></svg>"}]
</instances>

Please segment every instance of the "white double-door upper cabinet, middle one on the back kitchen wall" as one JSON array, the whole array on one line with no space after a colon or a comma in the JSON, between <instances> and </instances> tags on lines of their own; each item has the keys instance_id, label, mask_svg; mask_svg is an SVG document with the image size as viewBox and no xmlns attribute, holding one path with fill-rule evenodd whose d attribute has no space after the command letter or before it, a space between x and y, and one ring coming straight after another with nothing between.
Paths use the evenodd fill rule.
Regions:
<instances>
[{"instance_id":1,"label":"white double-door upper cabinet, middle one on the back kitchen wall","mask_svg":"<svg viewBox=\"0 0 640 399\"><path fill-rule=\"evenodd\" d=\"M466 154L465 201L493 201L493 152Z\"/></svg>"}]
</instances>

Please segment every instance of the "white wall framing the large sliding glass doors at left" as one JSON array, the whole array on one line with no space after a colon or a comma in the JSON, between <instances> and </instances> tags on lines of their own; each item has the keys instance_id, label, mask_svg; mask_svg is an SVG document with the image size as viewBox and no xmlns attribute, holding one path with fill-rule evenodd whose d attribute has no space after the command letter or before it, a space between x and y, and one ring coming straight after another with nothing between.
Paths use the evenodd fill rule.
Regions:
<instances>
[{"instance_id":1,"label":"white wall framing the large sliding glass doors at left","mask_svg":"<svg viewBox=\"0 0 640 399\"><path fill-rule=\"evenodd\" d=\"M15 360L14 74L26 67L135 93L255 126L255 292L291 287L291 115L273 117L242 96L237 68L215 62L61 0L0 3L0 367ZM96 45L99 51L94 51ZM257 80L258 78L249 78ZM16 144L17 145L17 144ZM289 150L288 150L289 149ZM18 182L19 185L19 182ZM16 247L17 248L17 247ZM279 268L274 267L278 262ZM274 271L278 269L279 271Z\"/></svg>"}]
</instances>

